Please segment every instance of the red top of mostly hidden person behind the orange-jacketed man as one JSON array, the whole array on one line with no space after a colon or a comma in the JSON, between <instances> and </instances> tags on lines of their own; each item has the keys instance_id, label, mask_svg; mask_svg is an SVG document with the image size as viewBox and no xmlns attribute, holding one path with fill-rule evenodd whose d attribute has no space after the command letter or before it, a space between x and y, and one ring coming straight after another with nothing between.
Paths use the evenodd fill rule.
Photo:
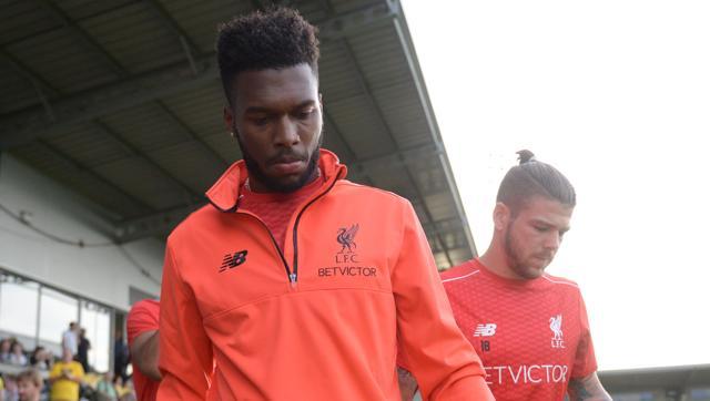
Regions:
<instances>
[{"instance_id":1,"label":"red top of mostly hidden person behind the orange-jacketed man","mask_svg":"<svg viewBox=\"0 0 710 401\"><path fill-rule=\"evenodd\" d=\"M160 317L160 302L154 299L143 299L131 308L126 320L129 333L129 347L133 340L145 331L158 330ZM148 378L133 364L133 384L139 401L154 401L158 394L160 381Z\"/></svg>"}]
</instances>

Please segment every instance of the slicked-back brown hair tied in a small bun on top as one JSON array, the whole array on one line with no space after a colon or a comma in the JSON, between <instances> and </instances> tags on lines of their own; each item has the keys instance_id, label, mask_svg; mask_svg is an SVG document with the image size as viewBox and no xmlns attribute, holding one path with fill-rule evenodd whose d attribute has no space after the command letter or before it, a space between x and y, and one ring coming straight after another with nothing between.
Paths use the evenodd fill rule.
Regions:
<instances>
[{"instance_id":1,"label":"slicked-back brown hair tied in a small bun on top","mask_svg":"<svg viewBox=\"0 0 710 401\"><path fill-rule=\"evenodd\" d=\"M535 196L575 207L577 194L572 184L557 168L539 162L528 150L517 152L520 164L511 167L500 182L497 202L517 215Z\"/></svg>"}]
</instances>

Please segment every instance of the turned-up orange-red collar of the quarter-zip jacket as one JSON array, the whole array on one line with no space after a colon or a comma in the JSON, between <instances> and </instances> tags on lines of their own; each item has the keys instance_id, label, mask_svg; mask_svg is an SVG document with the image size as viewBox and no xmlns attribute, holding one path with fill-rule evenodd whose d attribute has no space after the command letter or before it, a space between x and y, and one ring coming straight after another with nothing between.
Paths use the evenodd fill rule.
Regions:
<instances>
[{"instance_id":1,"label":"turned-up orange-red collar of the quarter-zip jacket","mask_svg":"<svg viewBox=\"0 0 710 401\"><path fill-rule=\"evenodd\" d=\"M337 156L331 151L321 150L318 166L325 181L322 191L328 191L333 187L335 181L345 178L347 175L347 167L341 164ZM236 210L241 195L240 192L247 177L248 172L246 164L243 160L239 161L222 174L220 179L207 189L205 195L210 203L219 210L233 213Z\"/></svg>"}]
</instances>

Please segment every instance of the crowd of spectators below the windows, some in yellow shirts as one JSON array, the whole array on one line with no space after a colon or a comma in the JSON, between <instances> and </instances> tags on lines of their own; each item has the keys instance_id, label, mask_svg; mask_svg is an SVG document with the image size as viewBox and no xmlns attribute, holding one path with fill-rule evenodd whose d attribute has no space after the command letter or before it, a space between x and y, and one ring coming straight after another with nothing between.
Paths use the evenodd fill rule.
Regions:
<instances>
[{"instance_id":1,"label":"crowd of spectators below the windows, some in yellow shirts","mask_svg":"<svg viewBox=\"0 0 710 401\"><path fill-rule=\"evenodd\" d=\"M0 401L134 401L128 346L118 333L113 371L89 364L91 342L75 322L61 335L61 356L42 346L28 352L17 338L0 340ZM116 372L114 376L113 372Z\"/></svg>"}]
</instances>

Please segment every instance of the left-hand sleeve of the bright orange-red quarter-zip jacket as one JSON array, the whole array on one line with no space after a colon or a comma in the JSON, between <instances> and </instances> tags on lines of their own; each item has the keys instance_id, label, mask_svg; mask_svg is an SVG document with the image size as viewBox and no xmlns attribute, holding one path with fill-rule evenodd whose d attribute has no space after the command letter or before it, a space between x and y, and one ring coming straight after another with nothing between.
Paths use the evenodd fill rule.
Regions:
<instances>
[{"instance_id":1,"label":"left-hand sleeve of the bright orange-red quarter-zip jacket","mask_svg":"<svg viewBox=\"0 0 710 401\"><path fill-rule=\"evenodd\" d=\"M204 400L212 372L212 343L194 292L180 275L169 238L160 310L159 401Z\"/></svg>"}]
</instances>

